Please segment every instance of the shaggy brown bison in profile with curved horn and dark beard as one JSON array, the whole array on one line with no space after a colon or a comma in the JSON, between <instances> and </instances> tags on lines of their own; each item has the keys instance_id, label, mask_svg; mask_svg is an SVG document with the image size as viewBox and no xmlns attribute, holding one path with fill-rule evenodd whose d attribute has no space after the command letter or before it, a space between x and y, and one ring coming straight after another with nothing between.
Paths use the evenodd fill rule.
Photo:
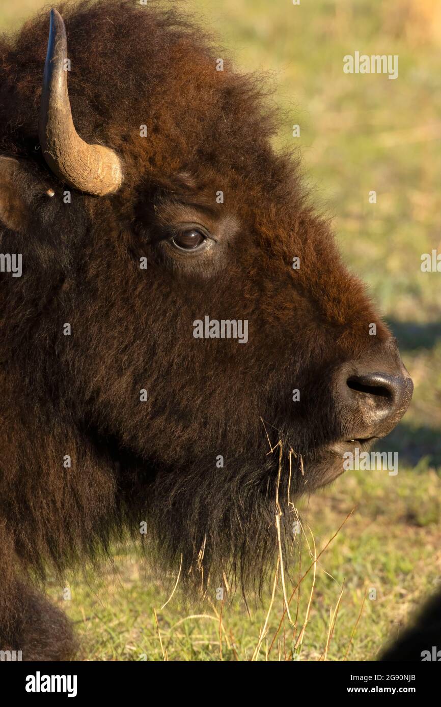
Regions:
<instances>
[{"instance_id":1,"label":"shaggy brown bison in profile with curved horn and dark beard","mask_svg":"<svg viewBox=\"0 0 441 707\"><path fill-rule=\"evenodd\" d=\"M0 647L23 660L74 651L46 573L128 535L184 589L258 592L293 499L412 394L259 76L150 2L47 31L0 39Z\"/></svg>"}]
</instances>

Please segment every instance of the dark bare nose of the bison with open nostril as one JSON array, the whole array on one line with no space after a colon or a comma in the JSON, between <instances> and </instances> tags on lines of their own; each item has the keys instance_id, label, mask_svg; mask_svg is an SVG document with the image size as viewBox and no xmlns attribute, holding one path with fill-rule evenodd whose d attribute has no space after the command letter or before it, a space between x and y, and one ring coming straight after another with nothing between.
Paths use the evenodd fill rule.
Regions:
<instances>
[{"instance_id":1,"label":"dark bare nose of the bison with open nostril","mask_svg":"<svg viewBox=\"0 0 441 707\"><path fill-rule=\"evenodd\" d=\"M346 439L384 437L401 420L411 402L413 382L401 361L393 368L384 372L352 365L343 370L338 397Z\"/></svg>"}]
</instances>

